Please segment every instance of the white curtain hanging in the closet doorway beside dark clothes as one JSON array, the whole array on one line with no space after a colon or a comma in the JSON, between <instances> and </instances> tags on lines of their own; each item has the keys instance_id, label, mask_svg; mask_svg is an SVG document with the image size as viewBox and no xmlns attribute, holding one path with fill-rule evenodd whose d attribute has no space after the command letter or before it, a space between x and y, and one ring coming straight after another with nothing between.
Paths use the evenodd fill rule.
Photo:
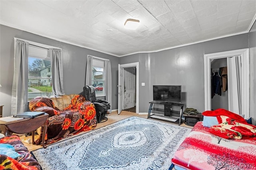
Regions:
<instances>
[{"instance_id":1,"label":"white curtain hanging in the closet doorway beside dark clothes","mask_svg":"<svg viewBox=\"0 0 256 170\"><path fill-rule=\"evenodd\" d=\"M228 58L228 94L229 110L231 112L242 115L242 81L241 81L241 56L234 56Z\"/></svg>"}]
</instances>

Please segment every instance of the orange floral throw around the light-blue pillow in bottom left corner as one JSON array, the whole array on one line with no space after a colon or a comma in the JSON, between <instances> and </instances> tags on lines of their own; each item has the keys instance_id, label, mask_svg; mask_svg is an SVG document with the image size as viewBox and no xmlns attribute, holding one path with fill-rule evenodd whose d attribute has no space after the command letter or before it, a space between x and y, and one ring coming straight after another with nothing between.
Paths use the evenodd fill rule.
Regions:
<instances>
[{"instance_id":1,"label":"orange floral throw around the light-blue pillow in bottom left corner","mask_svg":"<svg viewBox=\"0 0 256 170\"><path fill-rule=\"evenodd\" d=\"M1 144L14 146L15 151L20 154L18 158L11 158L0 154L0 170L40 170L40 165L30 154L28 149L20 141L17 135L8 135L0 138Z\"/></svg>"}]
</instances>

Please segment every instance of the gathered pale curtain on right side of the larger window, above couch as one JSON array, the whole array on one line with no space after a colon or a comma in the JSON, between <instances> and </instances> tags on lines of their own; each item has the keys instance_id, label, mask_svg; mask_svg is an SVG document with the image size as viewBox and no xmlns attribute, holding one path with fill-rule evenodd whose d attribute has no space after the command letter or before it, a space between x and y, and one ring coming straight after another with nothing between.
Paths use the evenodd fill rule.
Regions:
<instances>
[{"instance_id":1,"label":"gathered pale curtain on right side of the larger window, above couch","mask_svg":"<svg viewBox=\"0 0 256 170\"><path fill-rule=\"evenodd\" d=\"M49 54L52 61L52 93L60 96L65 95L63 88L62 50L50 48Z\"/></svg>"}]
</instances>

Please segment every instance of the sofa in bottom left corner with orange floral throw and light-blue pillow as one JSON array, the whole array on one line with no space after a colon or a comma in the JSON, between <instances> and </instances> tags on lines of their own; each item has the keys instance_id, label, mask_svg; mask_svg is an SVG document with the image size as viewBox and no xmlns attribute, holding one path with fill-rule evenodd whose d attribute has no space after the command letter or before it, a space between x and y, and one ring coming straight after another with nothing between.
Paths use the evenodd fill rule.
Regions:
<instances>
[{"instance_id":1,"label":"sofa in bottom left corner with orange floral throw and light-blue pillow","mask_svg":"<svg viewBox=\"0 0 256 170\"><path fill-rule=\"evenodd\" d=\"M0 138L0 170L40 170L40 165L18 135Z\"/></svg>"}]
</instances>

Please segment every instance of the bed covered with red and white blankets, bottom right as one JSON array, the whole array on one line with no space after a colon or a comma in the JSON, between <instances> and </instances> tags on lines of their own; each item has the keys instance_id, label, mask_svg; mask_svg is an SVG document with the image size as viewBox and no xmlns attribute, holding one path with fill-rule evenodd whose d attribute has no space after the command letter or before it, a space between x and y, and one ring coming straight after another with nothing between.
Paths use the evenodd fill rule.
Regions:
<instances>
[{"instance_id":1,"label":"bed covered with red and white blankets, bottom right","mask_svg":"<svg viewBox=\"0 0 256 170\"><path fill-rule=\"evenodd\" d=\"M224 109L203 115L217 124L196 123L172 158L175 169L256 170L255 126Z\"/></svg>"}]
</instances>

